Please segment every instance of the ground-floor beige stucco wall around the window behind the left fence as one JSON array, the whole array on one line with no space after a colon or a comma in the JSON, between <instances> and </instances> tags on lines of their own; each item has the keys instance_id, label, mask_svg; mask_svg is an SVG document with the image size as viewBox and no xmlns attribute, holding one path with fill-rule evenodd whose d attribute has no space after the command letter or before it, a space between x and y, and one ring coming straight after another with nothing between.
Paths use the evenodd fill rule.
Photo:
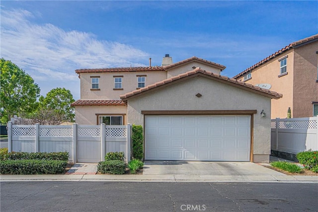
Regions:
<instances>
[{"instance_id":1,"label":"ground-floor beige stucco wall around the window behind the left fence","mask_svg":"<svg viewBox=\"0 0 318 212\"><path fill-rule=\"evenodd\" d=\"M127 125L126 105L76 106L75 122L79 125L97 125L96 114L123 114L123 124Z\"/></svg>"}]
</instances>

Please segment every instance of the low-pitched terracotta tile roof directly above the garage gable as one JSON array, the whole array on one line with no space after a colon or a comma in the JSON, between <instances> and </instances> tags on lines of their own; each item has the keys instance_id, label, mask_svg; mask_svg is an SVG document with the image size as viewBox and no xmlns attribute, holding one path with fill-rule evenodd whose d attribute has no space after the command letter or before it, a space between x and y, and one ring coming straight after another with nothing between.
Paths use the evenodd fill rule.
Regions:
<instances>
[{"instance_id":1,"label":"low-pitched terracotta tile roof directly above the garage gable","mask_svg":"<svg viewBox=\"0 0 318 212\"><path fill-rule=\"evenodd\" d=\"M220 82L224 82L224 83L227 83L229 85L233 85L233 86L245 89L245 90L249 90L251 92L255 92L255 93L270 97L270 98L279 99L279 98L281 98L283 96L282 94L277 93L275 91L263 89L263 88L260 88L258 86L255 86L255 85L252 85L252 84L248 84L248 83L239 81L239 80L234 79L234 78L230 78L230 77L227 77L227 76L222 76L222 75L210 72L210 71L205 71L205 70L202 70L202 69L200 69L198 67L195 70L188 71L188 72L185 72L185 73L181 73L181 74L176 75L176 76L172 76L171 78L164 79L162 81L156 82L155 84L148 85L147 87L143 87L143 88L140 88L138 90L134 90L132 92L120 95L119 97L121 99L123 99L124 101L126 101L127 98L129 98L131 96L134 96L136 94L139 94L139 93L142 93L142 92L146 92L148 90L160 87L162 85L174 82L174 81L176 81L178 79L181 79L181 78L184 78L184 77L188 77L188 76L191 76L191 75L195 75L195 74L197 74L197 75L199 75L199 74L206 75L206 76L212 77L212 79L214 79L214 80L217 80L217 81L220 81Z\"/></svg>"}]
</instances>

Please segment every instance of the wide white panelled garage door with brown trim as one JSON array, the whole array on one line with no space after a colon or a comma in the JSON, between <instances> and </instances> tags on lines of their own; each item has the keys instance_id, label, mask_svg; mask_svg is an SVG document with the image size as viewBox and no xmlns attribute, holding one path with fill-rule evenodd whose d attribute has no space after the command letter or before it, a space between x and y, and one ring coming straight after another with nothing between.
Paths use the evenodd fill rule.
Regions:
<instances>
[{"instance_id":1,"label":"wide white panelled garage door with brown trim","mask_svg":"<svg viewBox=\"0 0 318 212\"><path fill-rule=\"evenodd\" d=\"M249 115L146 115L146 160L250 161Z\"/></svg>"}]
</instances>

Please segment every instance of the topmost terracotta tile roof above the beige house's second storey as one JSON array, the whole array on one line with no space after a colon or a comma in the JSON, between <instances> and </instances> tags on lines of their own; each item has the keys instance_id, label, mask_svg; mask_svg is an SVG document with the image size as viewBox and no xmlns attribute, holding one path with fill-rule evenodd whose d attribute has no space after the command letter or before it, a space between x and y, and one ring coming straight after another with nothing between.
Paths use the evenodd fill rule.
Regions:
<instances>
[{"instance_id":1,"label":"topmost terracotta tile roof above the beige house's second storey","mask_svg":"<svg viewBox=\"0 0 318 212\"><path fill-rule=\"evenodd\" d=\"M221 64L217 64L217 63L213 63L211 61L207 61L207 60L203 60L197 57L192 57L183 61L180 61L178 63L175 64L171 64L168 66L153 66L153 67L126 67L126 68L105 68L105 69L77 69L75 70L76 73L88 73L88 72L122 72L122 71L167 71L170 68L191 62L191 61L200 61L206 64L210 64L212 66L216 66L219 69L224 70L226 67L221 65Z\"/></svg>"}]
</instances>

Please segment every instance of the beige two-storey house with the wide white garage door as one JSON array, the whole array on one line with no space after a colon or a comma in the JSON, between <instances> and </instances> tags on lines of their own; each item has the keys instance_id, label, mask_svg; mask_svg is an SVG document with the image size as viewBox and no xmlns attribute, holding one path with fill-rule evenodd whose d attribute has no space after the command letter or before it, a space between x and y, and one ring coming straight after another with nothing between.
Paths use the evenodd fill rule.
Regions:
<instances>
[{"instance_id":1,"label":"beige two-storey house with the wide white garage door","mask_svg":"<svg viewBox=\"0 0 318 212\"><path fill-rule=\"evenodd\" d=\"M222 76L225 66L213 62L169 58L161 67L76 70L76 122L142 125L146 160L268 162L271 99L282 95Z\"/></svg>"}]
</instances>

